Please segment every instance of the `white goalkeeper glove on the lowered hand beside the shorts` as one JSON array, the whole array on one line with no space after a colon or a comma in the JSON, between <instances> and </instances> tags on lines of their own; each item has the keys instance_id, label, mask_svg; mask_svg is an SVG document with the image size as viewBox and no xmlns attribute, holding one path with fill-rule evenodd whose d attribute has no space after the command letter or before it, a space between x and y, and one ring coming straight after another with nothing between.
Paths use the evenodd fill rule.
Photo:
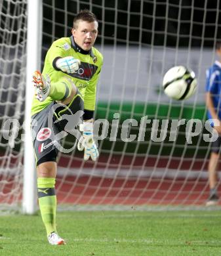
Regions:
<instances>
[{"instance_id":1,"label":"white goalkeeper glove on the lowered hand beside the shorts","mask_svg":"<svg viewBox=\"0 0 221 256\"><path fill-rule=\"evenodd\" d=\"M83 131L83 136L77 143L77 149L79 151L85 149L84 160L91 158L93 161L96 161L99 152L93 139L93 123L84 121L83 124L80 125L80 131Z\"/></svg>"}]
</instances>

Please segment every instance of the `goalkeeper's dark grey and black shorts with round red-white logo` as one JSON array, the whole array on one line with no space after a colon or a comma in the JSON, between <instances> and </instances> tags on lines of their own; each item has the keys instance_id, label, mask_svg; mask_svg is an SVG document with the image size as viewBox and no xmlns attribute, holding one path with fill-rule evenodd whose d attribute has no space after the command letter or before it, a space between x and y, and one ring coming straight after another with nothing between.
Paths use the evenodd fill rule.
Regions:
<instances>
[{"instance_id":1,"label":"goalkeeper's dark grey and black shorts with round red-white logo","mask_svg":"<svg viewBox=\"0 0 221 256\"><path fill-rule=\"evenodd\" d=\"M77 111L83 111L83 105L81 95L78 93L68 106L53 101L41 112L31 117L31 135L36 165L47 161L56 161L60 146L60 140L56 135L64 131L68 123L67 119L60 117L64 115L73 116L72 114ZM73 123L79 123L79 120Z\"/></svg>"}]
</instances>

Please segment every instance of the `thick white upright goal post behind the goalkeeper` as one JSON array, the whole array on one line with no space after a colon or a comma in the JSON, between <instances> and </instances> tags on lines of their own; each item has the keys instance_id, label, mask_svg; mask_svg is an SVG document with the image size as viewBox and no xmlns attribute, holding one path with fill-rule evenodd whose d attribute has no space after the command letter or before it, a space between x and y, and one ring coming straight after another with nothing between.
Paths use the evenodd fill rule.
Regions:
<instances>
[{"instance_id":1,"label":"thick white upright goal post behind the goalkeeper","mask_svg":"<svg viewBox=\"0 0 221 256\"><path fill-rule=\"evenodd\" d=\"M41 39L42 39L42 1L28 0L28 30L27 30L27 64L26 64L26 108L25 108L25 137L24 137L24 180L22 211L33 214L37 210L37 180L35 157L30 123L33 86L31 84L33 71L41 69ZM32 150L33 151L33 150Z\"/></svg>"}]
</instances>

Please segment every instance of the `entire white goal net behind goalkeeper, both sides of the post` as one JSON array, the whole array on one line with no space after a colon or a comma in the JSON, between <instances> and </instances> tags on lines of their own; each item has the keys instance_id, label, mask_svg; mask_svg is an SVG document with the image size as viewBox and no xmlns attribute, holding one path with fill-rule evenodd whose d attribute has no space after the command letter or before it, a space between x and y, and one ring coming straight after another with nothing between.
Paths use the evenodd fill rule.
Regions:
<instances>
[{"instance_id":1,"label":"entire white goal net behind goalkeeper, both sides of the post","mask_svg":"<svg viewBox=\"0 0 221 256\"><path fill-rule=\"evenodd\" d=\"M44 0L42 67L51 43L71 35L81 9L98 17L95 47L104 55L95 113L100 157L84 161L76 148L58 154L58 207L205 205L211 148L205 139L205 71L216 58L219 1ZM24 116L26 1L2 1L0 10L3 132L9 118ZM163 75L175 65L197 76L197 93L188 100L171 100L163 92ZM0 203L9 207L22 200L20 131L10 140L14 148L1 140ZM63 145L71 148L73 142L68 136Z\"/></svg>"}]
</instances>

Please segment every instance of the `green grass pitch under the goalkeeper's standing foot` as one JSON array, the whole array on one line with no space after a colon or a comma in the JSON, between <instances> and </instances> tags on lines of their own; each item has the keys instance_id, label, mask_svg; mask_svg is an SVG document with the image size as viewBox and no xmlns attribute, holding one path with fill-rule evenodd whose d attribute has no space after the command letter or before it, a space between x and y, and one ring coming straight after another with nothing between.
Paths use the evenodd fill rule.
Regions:
<instances>
[{"instance_id":1,"label":"green grass pitch under the goalkeeper's standing foot","mask_svg":"<svg viewBox=\"0 0 221 256\"><path fill-rule=\"evenodd\" d=\"M0 255L221 255L220 211L65 211L47 242L39 215L0 215Z\"/></svg>"}]
</instances>

